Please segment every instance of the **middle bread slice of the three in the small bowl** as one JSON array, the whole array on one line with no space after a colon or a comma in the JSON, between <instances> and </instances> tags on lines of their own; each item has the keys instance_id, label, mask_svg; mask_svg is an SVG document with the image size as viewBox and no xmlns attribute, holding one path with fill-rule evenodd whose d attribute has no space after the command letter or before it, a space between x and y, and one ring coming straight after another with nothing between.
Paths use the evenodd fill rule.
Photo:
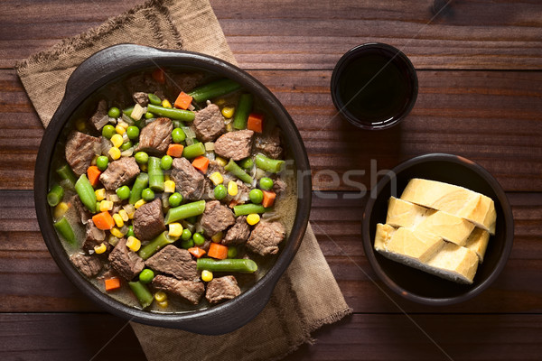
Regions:
<instances>
[{"instance_id":1,"label":"middle bread slice of the three in the small bowl","mask_svg":"<svg viewBox=\"0 0 542 361\"><path fill-rule=\"evenodd\" d=\"M474 224L449 213L428 209L403 199L391 197L386 223L413 229L417 235L433 235L456 245L465 245Z\"/></svg>"}]
</instances>

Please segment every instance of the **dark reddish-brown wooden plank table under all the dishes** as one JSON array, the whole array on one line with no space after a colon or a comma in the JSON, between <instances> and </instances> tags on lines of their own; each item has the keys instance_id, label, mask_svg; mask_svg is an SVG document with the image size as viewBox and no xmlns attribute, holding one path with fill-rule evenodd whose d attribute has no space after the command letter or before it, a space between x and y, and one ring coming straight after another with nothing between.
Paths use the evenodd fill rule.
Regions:
<instances>
[{"instance_id":1,"label":"dark reddish-brown wooden plank table under all the dishes","mask_svg":"<svg viewBox=\"0 0 542 361\"><path fill-rule=\"evenodd\" d=\"M42 125L14 61L120 14L139 0L0 3L0 358L143 360L133 331L88 301L52 261L33 209ZM212 0L243 69L294 118L313 168L311 221L351 317L317 331L297 359L540 359L542 357L542 3L525 1ZM414 110L364 132L341 121L332 68L363 42L413 61ZM507 191L515 240L499 279L472 301L426 307L373 282L360 242L365 198L342 176L371 160L389 169L423 153L479 162ZM339 179L324 170L336 171ZM382 287L382 289L380 289ZM112 340L111 340L112 339ZM107 341L111 342L107 343ZM104 345L106 345L104 347ZM129 358L128 358L129 357Z\"/></svg>"}]
</instances>

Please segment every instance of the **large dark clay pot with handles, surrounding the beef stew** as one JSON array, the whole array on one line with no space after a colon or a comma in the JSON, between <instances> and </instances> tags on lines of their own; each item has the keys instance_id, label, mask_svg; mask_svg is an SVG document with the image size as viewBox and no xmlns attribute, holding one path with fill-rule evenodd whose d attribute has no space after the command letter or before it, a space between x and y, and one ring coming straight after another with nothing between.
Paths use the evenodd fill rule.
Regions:
<instances>
[{"instance_id":1,"label":"large dark clay pot with handles, surrounding the beef stew","mask_svg":"<svg viewBox=\"0 0 542 361\"><path fill-rule=\"evenodd\" d=\"M55 143L70 116L85 99L99 88L138 69L156 66L168 69L202 70L237 81L261 100L261 103L282 129L286 146L292 154L297 172L298 200L294 226L285 239L285 246L268 272L237 298L205 310L164 314L136 310L100 292L70 264L70 260L52 227L51 209L47 204L49 168ZM294 258L304 236L311 208L311 177L303 141L292 118L278 99L257 79L226 61L188 51L162 51L154 48L122 44L98 51L79 65L66 86L66 94L43 135L34 174L35 206L42 236L55 262L80 291L105 310L148 325L184 329L206 335L230 332L245 325L264 309L276 282Z\"/></svg>"}]
</instances>

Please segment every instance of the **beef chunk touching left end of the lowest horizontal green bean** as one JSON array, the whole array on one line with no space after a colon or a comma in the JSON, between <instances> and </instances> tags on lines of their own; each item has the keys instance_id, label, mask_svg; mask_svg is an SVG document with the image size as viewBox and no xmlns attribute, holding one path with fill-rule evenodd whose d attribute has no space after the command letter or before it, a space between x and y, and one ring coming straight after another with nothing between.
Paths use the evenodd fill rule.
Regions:
<instances>
[{"instance_id":1,"label":"beef chunk touching left end of the lowest horizontal green bean","mask_svg":"<svg viewBox=\"0 0 542 361\"><path fill-rule=\"evenodd\" d=\"M192 255L174 245L166 245L156 255L146 260L146 266L154 271L172 274L179 280L195 280L198 278L196 261Z\"/></svg>"}]
</instances>

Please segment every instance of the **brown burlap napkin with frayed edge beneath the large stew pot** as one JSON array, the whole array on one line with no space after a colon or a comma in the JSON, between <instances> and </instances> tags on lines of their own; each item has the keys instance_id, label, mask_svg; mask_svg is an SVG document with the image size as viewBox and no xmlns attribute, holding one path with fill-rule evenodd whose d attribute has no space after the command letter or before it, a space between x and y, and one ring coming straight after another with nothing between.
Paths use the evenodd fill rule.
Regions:
<instances>
[{"instance_id":1,"label":"brown burlap napkin with frayed edge beneath the large stew pot","mask_svg":"<svg viewBox=\"0 0 542 361\"><path fill-rule=\"evenodd\" d=\"M73 69L96 51L123 42L199 51L236 63L208 0L148 1L16 65L44 126L60 104ZM270 360L313 342L313 330L350 313L309 225L303 244L265 310L243 328L210 337L131 325L152 361Z\"/></svg>"}]
</instances>

